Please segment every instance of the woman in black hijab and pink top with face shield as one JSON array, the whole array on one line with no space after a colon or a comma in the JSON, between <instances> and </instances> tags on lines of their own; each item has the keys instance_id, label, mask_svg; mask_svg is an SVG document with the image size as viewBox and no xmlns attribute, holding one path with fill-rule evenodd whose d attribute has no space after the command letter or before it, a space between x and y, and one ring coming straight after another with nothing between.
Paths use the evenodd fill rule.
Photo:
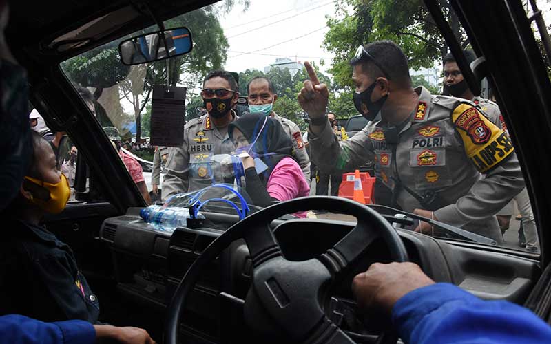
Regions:
<instances>
[{"instance_id":1,"label":"woman in black hijab and pink top with face shield","mask_svg":"<svg viewBox=\"0 0 551 344\"><path fill-rule=\"evenodd\" d=\"M264 114L247 114L228 128L245 168L245 189L254 204L269 206L309 195L310 186L298 163L291 158L293 142L278 120ZM306 217L305 213L298 216Z\"/></svg>"}]
</instances>

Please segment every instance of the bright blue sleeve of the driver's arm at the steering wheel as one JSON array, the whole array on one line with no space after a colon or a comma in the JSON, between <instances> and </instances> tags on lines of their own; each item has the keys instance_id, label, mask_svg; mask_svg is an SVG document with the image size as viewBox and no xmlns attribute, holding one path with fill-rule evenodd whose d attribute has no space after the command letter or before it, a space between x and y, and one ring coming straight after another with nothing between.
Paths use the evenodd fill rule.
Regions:
<instances>
[{"instance_id":1,"label":"bright blue sleeve of the driver's arm at the steering wheel","mask_svg":"<svg viewBox=\"0 0 551 344\"><path fill-rule=\"evenodd\" d=\"M406 343L548 343L551 327L508 301L483 301L456 286L436 283L409 292L393 308Z\"/></svg>"}]
</instances>

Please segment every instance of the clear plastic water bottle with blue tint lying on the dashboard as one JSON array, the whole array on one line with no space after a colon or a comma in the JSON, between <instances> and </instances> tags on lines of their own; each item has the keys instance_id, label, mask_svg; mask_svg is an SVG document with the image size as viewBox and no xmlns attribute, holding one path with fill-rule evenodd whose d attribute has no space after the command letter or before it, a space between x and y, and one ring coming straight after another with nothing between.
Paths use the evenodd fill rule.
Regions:
<instances>
[{"instance_id":1,"label":"clear plastic water bottle with blue tint lying on the dashboard","mask_svg":"<svg viewBox=\"0 0 551 344\"><path fill-rule=\"evenodd\" d=\"M140 216L145 222L152 224L158 230L174 232L177 227L187 226L189 209L176 206L163 209L162 206L152 205L143 208L140 211ZM204 218L200 214L198 214L198 217Z\"/></svg>"}]
</instances>

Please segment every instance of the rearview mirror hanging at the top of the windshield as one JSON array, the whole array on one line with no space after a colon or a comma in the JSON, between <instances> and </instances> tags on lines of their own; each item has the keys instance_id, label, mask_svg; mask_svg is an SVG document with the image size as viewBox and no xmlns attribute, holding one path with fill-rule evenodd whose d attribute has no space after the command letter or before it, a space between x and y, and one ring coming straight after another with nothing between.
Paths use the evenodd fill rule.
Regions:
<instances>
[{"instance_id":1,"label":"rearview mirror hanging at the top of the windshield","mask_svg":"<svg viewBox=\"0 0 551 344\"><path fill-rule=\"evenodd\" d=\"M191 52L193 43L188 28L174 28L132 37L118 45L121 62L139 65Z\"/></svg>"}]
</instances>

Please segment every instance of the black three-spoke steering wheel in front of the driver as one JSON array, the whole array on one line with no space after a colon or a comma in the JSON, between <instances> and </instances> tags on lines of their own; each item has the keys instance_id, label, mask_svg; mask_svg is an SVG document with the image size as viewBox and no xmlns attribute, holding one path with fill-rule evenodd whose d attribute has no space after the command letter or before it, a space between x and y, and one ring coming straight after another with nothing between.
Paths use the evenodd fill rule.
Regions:
<instances>
[{"instance_id":1,"label":"black three-spoke steering wheel in front of the driver","mask_svg":"<svg viewBox=\"0 0 551 344\"><path fill-rule=\"evenodd\" d=\"M356 226L319 258L288 261L283 257L270 224L282 215L333 209L357 218ZM236 239L245 239L253 261L251 288L245 300L245 320L253 328L285 333L291 343L355 343L322 310L329 297L324 287L338 281L349 266L378 237L393 261L407 261L406 248L396 230L379 213L363 204L337 197L301 197L258 211L231 226L191 264L168 308L165 343L177 344L180 313L202 270ZM325 300L324 300L325 299ZM396 343L382 332L377 343Z\"/></svg>"}]
</instances>

